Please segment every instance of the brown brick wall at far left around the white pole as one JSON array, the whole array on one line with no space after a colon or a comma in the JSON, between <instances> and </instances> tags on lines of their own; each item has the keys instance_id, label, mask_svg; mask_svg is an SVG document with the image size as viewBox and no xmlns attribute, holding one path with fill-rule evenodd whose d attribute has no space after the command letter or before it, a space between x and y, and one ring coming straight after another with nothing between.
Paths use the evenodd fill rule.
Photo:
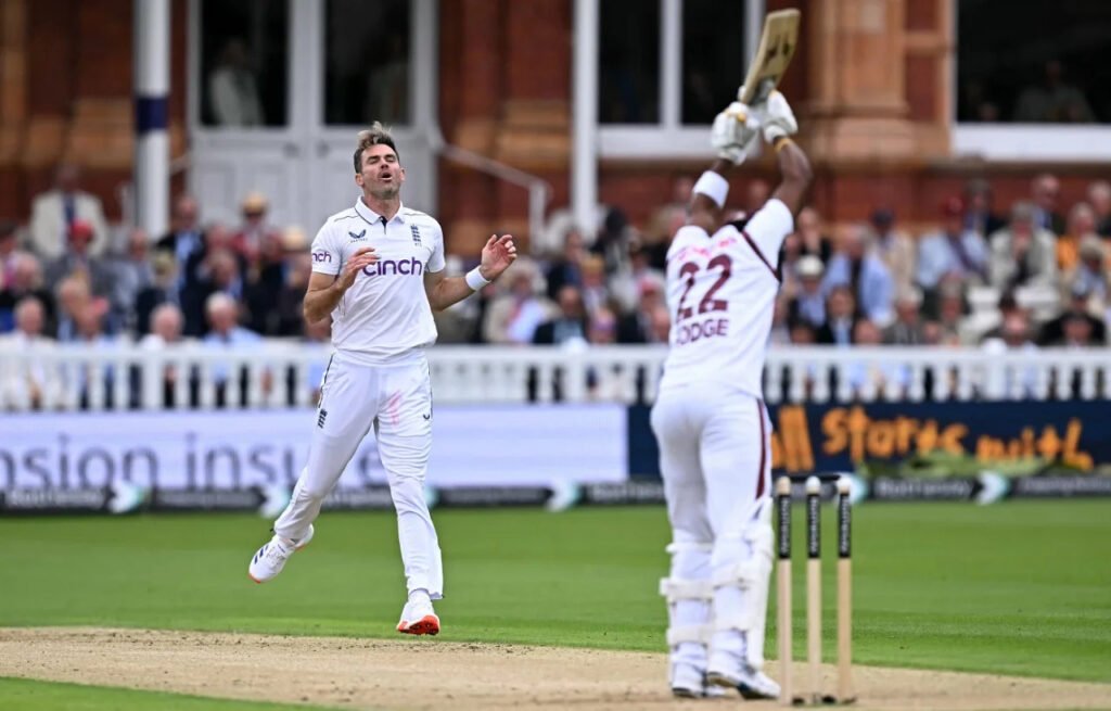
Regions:
<instances>
[{"instance_id":1,"label":"brown brick wall at far left around the white pole","mask_svg":"<svg viewBox=\"0 0 1111 711\"><path fill-rule=\"evenodd\" d=\"M18 111L0 117L0 219L26 220L59 161L83 169L82 187L120 219L118 191L133 159L132 0L4 0L4 91ZM171 18L171 150L184 151L188 1ZM6 101L6 108L7 108Z\"/></svg>"}]
</instances>

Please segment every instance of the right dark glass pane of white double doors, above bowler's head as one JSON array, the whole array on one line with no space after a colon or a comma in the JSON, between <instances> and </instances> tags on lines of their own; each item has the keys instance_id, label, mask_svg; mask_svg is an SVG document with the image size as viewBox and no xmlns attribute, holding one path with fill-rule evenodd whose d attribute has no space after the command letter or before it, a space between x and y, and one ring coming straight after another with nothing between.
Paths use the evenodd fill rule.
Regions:
<instances>
[{"instance_id":1,"label":"right dark glass pane of white double doors, above bowler's head","mask_svg":"<svg viewBox=\"0 0 1111 711\"><path fill-rule=\"evenodd\" d=\"M328 0L324 122L410 123L409 0Z\"/></svg>"}]
</instances>

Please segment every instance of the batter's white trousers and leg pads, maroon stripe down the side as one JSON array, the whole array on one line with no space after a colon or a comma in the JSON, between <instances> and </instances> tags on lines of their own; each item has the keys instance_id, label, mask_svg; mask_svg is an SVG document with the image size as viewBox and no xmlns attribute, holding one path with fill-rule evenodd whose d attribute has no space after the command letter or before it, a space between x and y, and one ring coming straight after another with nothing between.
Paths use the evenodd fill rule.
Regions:
<instances>
[{"instance_id":1,"label":"batter's white trousers and leg pads, maroon stripe down the side","mask_svg":"<svg viewBox=\"0 0 1111 711\"><path fill-rule=\"evenodd\" d=\"M759 592L720 582L758 553L770 555L770 548L758 551L752 544L754 534L764 541L771 537L770 520L759 515L771 492L771 421L763 402L720 383L664 387L651 423L672 528L671 578L713 587L709 601L673 604L672 627L750 614L762 619L767 581ZM763 653L762 627L752 635L753 658ZM718 631L713 647L748 657L748 637ZM704 668L705 653L705 644L681 643L672 650L672 661Z\"/></svg>"}]
</instances>

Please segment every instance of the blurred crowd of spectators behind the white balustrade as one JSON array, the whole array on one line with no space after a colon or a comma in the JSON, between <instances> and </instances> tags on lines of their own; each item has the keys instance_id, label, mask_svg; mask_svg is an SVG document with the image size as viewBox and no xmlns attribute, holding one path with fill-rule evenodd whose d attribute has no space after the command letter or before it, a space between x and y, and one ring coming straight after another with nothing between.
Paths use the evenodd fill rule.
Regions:
<instances>
[{"instance_id":1,"label":"blurred crowd of spectators behind the white balustrade","mask_svg":"<svg viewBox=\"0 0 1111 711\"><path fill-rule=\"evenodd\" d=\"M478 297L437 314L440 341L667 342L667 247L690 189L690 179L678 180L672 201L642 229L609 207L597 230L569 228L560 248L533 249ZM767 198L767 184L751 181L741 211ZM780 256L773 346L1105 344L1111 184L1093 182L1084 201L1065 206L1057 178L1043 174L1029 200L1001 210L990 186L973 180L938 209L937 229L917 236L888 209L837 233L804 209ZM267 198L252 193L237 224L206 223L183 194L166 234L130 228L113 239L78 171L61 167L26 229L0 224L0 339L151 349L324 342L328 324L307 326L301 314L309 237L272 224L268 212ZM467 262L449 257L449 270L462 273ZM39 402L60 387L50 373L10 370L0 372L0 407L16 390Z\"/></svg>"}]
</instances>

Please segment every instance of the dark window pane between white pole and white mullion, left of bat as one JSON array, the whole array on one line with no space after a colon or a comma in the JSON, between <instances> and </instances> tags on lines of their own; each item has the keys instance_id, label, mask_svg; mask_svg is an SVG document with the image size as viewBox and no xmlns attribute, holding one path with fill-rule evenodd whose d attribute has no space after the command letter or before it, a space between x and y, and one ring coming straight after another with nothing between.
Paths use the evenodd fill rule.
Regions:
<instances>
[{"instance_id":1,"label":"dark window pane between white pole and white mullion, left of bat","mask_svg":"<svg viewBox=\"0 0 1111 711\"><path fill-rule=\"evenodd\" d=\"M660 121L660 3L601 0L598 119L601 123Z\"/></svg>"}]
</instances>

